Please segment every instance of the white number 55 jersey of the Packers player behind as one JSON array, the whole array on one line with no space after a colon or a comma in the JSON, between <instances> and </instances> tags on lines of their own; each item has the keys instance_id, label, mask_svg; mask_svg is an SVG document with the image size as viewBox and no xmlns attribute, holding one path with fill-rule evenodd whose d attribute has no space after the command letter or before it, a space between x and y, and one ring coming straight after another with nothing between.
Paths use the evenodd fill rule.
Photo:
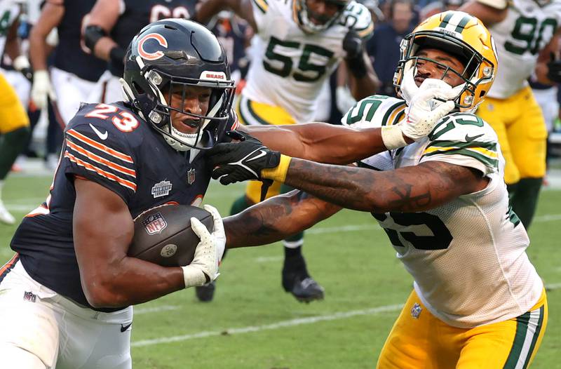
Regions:
<instances>
[{"instance_id":1,"label":"white number 55 jersey of the Packers player behind","mask_svg":"<svg viewBox=\"0 0 561 369\"><path fill-rule=\"evenodd\" d=\"M252 0L251 4L257 34L243 95L282 107L297 123L311 121L323 83L346 56L342 44L349 29L363 38L371 36L370 12L351 0L339 22L323 32L306 34L297 24L295 1Z\"/></svg>"}]
</instances>

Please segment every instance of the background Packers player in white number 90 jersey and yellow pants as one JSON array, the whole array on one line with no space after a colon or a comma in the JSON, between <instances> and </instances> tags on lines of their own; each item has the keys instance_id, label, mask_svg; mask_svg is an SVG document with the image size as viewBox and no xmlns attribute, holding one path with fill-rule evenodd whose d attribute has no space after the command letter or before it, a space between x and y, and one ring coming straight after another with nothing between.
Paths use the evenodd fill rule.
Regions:
<instances>
[{"instance_id":1,"label":"background Packers player in white number 90 jersey and yellow pants","mask_svg":"<svg viewBox=\"0 0 561 369\"><path fill-rule=\"evenodd\" d=\"M547 129L527 79L557 51L561 0L471 0L461 10L482 20L496 41L501 67L477 114L499 136L513 210L528 228L546 174Z\"/></svg>"}]
</instances>

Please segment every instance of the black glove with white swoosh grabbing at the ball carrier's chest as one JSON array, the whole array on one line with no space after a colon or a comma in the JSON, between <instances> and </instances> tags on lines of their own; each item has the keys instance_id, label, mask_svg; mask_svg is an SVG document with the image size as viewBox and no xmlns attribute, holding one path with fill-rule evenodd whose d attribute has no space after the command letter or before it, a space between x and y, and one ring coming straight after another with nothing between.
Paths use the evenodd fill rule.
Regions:
<instances>
[{"instance_id":1,"label":"black glove with white swoosh grabbing at the ball carrier's chest","mask_svg":"<svg viewBox=\"0 0 561 369\"><path fill-rule=\"evenodd\" d=\"M273 151L257 138L238 130L227 135L240 142L219 143L206 152L212 166L212 178L222 185L245 180L262 180L261 170L275 168L280 163L280 152Z\"/></svg>"}]
</instances>

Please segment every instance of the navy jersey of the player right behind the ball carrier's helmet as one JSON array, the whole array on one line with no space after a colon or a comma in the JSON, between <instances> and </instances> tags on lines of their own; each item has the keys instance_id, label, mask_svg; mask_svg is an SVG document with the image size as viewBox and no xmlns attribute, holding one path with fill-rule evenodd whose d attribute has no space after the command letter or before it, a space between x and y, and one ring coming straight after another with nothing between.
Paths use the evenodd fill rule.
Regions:
<instances>
[{"instance_id":1,"label":"navy jersey of the player right behind the ball carrier's helmet","mask_svg":"<svg viewBox=\"0 0 561 369\"><path fill-rule=\"evenodd\" d=\"M124 11L111 29L111 39L126 51L130 41L145 25L163 18L191 18L198 0L122 0ZM121 63L109 62L114 76L123 76Z\"/></svg>"}]
</instances>

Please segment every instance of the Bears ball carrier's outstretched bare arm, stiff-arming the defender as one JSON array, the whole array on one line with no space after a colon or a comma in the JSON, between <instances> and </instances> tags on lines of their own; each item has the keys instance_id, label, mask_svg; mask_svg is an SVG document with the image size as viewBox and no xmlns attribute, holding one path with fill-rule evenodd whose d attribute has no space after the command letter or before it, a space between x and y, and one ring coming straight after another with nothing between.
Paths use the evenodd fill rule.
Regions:
<instances>
[{"instance_id":1,"label":"Bears ball carrier's outstretched bare arm, stiff-arming the defender","mask_svg":"<svg viewBox=\"0 0 561 369\"><path fill-rule=\"evenodd\" d=\"M318 163L349 164L386 150L380 128L351 128L327 123L243 126L267 147Z\"/></svg>"}]
</instances>

